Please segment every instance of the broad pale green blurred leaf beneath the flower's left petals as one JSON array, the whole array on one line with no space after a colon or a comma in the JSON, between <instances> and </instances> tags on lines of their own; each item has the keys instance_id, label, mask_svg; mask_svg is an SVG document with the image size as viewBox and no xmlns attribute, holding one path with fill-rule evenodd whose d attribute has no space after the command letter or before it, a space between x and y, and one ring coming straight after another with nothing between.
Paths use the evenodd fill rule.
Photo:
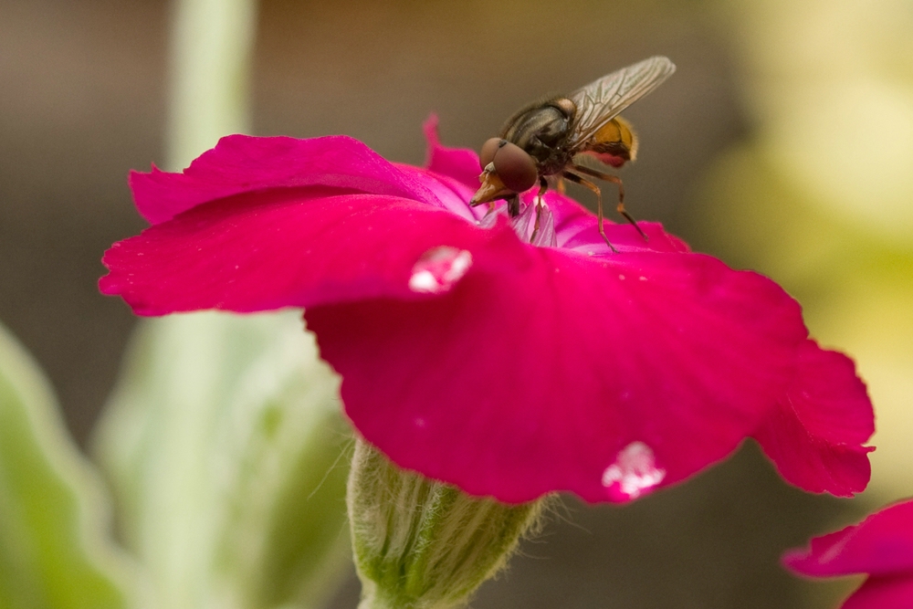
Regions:
<instances>
[{"instance_id":1,"label":"broad pale green blurred leaf beneath the flower's left petals","mask_svg":"<svg viewBox=\"0 0 913 609\"><path fill-rule=\"evenodd\" d=\"M300 312L143 323L96 447L156 606L333 590L349 563L338 394Z\"/></svg>"}]
</instances>

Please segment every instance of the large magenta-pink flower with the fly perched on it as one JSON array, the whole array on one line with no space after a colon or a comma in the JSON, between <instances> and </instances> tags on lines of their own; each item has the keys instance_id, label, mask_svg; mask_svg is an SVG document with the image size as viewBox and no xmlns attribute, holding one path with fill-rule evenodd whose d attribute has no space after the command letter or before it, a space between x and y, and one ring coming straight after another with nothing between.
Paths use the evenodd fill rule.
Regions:
<instances>
[{"instance_id":1,"label":"large magenta-pink flower with the fly perched on it","mask_svg":"<svg viewBox=\"0 0 913 609\"><path fill-rule=\"evenodd\" d=\"M152 226L100 281L140 315L303 307L346 414L402 467L508 502L626 501L754 436L782 476L851 495L869 478L864 385L809 340L770 279L609 225L557 193L534 243L471 208L474 152L426 168L361 142L242 135L184 173L132 173Z\"/></svg>"}]
</instances>

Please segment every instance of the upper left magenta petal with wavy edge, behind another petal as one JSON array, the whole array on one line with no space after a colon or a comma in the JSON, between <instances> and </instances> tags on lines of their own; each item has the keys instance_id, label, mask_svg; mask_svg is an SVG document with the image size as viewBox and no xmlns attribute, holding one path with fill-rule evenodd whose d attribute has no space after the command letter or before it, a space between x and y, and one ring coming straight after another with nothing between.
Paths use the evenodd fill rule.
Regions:
<instances>
[{"instance_id":1,"label":"upper left magenta petal with wavy edge, behind another petal","mask_svg":"<svg viewBox=\"0 0 913 609\"><path fill-rule=\"evenodd\" d=\"M226 196L301 186L344 188L441 205L427 180L425 175L400 171L362 142L344 135L311 140L229 135L183 173L152 167L151 173L130 175L137 209L152 224Z\"/></svg>"}]
</instances>

